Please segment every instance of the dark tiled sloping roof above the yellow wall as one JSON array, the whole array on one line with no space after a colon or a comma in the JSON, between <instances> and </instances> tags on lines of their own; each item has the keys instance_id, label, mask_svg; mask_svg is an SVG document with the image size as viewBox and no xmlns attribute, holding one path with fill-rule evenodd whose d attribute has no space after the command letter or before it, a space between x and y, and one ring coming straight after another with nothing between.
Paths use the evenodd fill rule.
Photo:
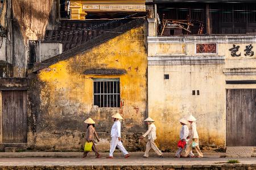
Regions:
<instances>
[{"instance_id":1,"label":"dark tiled sloping roof above the yellow wall","mask_svg":"<svg viewBox=\"0 0 256 170\"><path fill-rule=\"evenodd\" d=\"M131 19L103 21L60 19L60 22L55 25L55 29L46 31L44 41L61 42L63 44L63 51L66 51L129 21Z\"/></svg>"}]
</instances>

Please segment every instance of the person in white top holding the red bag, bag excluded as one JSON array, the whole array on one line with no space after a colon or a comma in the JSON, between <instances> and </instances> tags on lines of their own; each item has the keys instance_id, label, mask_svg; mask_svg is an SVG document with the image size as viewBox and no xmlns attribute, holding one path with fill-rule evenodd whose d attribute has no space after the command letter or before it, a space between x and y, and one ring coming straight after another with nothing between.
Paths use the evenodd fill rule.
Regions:
<instances>
[{"instance_id":1,"label":"person in white top holding the red bag, bag excluded","mask_svg":"<svg viewBox=\"0 0 256 170\"><path fill-rule=\"evenodd\" d=\"M188 121L185 120L185 118L181 118L180 120L180 124L182 125L181 129L180 129L180 140L181 141L185 141L187 143L188 141L188 138L189 138L189 130L188 130ZM186 147L186 146L185 146ZM177 150L176 154L175 154L175 158L180 158L180 157L183 157L181 155L181 152L182 152L183 148L182 147L179 147L179 149ZM191 151L189 153L189 156L194 156L193 152Z\"/></svg>"}]
</instances>

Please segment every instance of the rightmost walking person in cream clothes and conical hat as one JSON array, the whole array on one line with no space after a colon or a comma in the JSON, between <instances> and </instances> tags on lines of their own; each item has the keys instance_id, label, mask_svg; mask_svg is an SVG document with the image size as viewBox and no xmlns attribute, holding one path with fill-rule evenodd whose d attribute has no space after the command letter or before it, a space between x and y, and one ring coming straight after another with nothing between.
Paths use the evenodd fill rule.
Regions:
<instances>
[{"instance_id":1,"label":"rightmost walking person in cream clothes and conical hat","mask_svg":"<svg viewBox=\"0 0 256 170\"><path fill-rule=\"evenodd\" d=\"M185 157L187 157L189 155L189 153L192 151L192 143L193 142L196 142L196 152L198 153L199 156L192 156L192 157L199 157L199 158L202 158L203 157L203 153L200 151L200 148L199 148L199 136L198 136L198 133L196 131L196 124L195 124L195 121L196 121L196 118L193 117L192 115L190 115L188 118L187 118L188 122L191 124L190 128L189 128L189 140L188 140L188 145L185 149Z\"/></svg>"}]
</instances>

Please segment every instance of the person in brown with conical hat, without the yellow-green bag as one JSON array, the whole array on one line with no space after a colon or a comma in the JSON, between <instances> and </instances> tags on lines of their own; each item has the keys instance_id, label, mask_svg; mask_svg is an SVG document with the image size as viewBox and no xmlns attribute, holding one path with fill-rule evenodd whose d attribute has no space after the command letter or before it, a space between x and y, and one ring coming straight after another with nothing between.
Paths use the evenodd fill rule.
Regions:
<instances>
[{"instance_id":1,"label":"person in brown with conical hat, without the yellow-green bag","mask_svg":"<svg viewBox=\"0 0 256 170\"><path fill-rule=\"evenodd\" d=\"M85 139L87 142L93 142L92 150L96 155L96 158L101 158L101 155L98 153L97 148L94 144L94 135L98 142L100 142L100 139L98 138L98 135L96 133L96 130L94 129L95 122L92 120L92 118L88 118L85 121L85 124L87 124L87 130L86 130L86 136ZM86 158L89 152L84 152L84 155L82 158Z\"/></svg>"}]
</instances>

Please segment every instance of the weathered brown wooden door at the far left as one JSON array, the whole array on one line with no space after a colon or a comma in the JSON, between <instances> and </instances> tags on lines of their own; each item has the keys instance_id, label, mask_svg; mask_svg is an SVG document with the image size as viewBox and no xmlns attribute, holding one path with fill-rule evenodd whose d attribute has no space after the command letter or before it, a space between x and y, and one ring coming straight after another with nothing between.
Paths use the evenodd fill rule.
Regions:
<instances>
[{"instance_id":1,"label":"weathered brown wooden door at the far left","mask_svg":"<svg viewBox=\"0 0 256 170\"><path fill-rule=\"evenodd\" d=\"M3 143L27 143L27 92L2 91Z\"/></svg>"}]
</instances>

